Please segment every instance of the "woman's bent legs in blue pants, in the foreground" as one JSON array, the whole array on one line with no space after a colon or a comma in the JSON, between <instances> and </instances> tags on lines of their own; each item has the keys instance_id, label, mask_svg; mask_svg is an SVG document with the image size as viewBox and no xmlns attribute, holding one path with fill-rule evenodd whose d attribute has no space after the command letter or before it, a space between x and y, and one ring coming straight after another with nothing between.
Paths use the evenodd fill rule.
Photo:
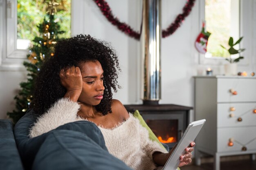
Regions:
<instances>
[{"instance_id":1,"label":"woman's bent legs in blue pants, in the foreground","mask_svg":"<svg viewBox=\"0 0 256 170\"><path fill-rule=\"evenodd\" d=\"M72 122L50 131L36 154L32 170L131 170L100 146L104 144L104 139L100 131L100 135L97 131L95 133L97 126L92 129L94 135L64 130L66 126L76 125L80 126L79 129L84 129L83 127L94 124Z\"/></svg>"}]
</instances>

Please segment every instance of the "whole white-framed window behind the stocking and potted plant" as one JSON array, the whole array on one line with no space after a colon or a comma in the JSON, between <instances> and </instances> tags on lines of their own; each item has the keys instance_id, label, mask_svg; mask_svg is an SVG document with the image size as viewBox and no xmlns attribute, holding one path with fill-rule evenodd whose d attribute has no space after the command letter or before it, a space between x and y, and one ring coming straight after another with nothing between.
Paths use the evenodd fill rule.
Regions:
<instances>
[{"instance_id":1,"label":"whole white-framed window behind the stocking and potted plant","mask_svg":"<svg viewBox=\"0 0 256 170\"><path fill-rule=\"evenodd\" d=\"M211 10L209 8L209 3L220 3L225 4L224 8L216 7L215 9ZM229 4L229 5L228 5ZM198 29L202 28L202 21L206 21L206 28L207 31L211 32L211 36L208 39L207 44L207 54L198 54L198 61L200 65L223 65L227 61L225 60L224 52L221 52L222 48L220 44L223 46L227 45L229 37L234 37L234 41L238 40L239 37L244 37L242 43L240 43L240 48L245 48L246 50L242 53L245 57L243 60L239 61L239 65L248 65L249 59L252 53L252 46L250 42L252 42L252 23L250 21L253 20L252 18L252 7L253 1L252 0L200 0L198 2L199 7L199 22L198 22ZM217 6L217 4L216 4ZM221 16L219 19L218 17L211 21L207 18L211 17L210 11L214 11L212 14L213 16ZM219 14L221 12L223 14ZM229 11L229 12L228 12ZM227 14L229 13L229 14ZM227 15L227 16L224 16ZM228 16L229 15L229 16ZM223 19L223 18L229 18ZM195 19L196 20L196 19ZM218 24L214 24L217 22ZM226 30L223 31L223 26L227 25L225 28ZM221 26L221 27L220 27ZM212 28L211 28L212 27ZM215 28L216 27L216 28ZM215 31L220 28L220 32L223 35L216 35L217 37L214 38ZM198 32L197 32L198 33ZM226 35L225 35L226 34ZM221 39L220 42L214 42L214 39ZM215 44L214 44L215 43ZM216 49L216 50L214 50ZM219 51L218 51L219 49ZM210 53L211 52L211 53ZM215 54L215 55L213 55ZM224 57L220 57L220 54ZM234 56L235 57L235 56Z\"/></svg>"}]
</instances>

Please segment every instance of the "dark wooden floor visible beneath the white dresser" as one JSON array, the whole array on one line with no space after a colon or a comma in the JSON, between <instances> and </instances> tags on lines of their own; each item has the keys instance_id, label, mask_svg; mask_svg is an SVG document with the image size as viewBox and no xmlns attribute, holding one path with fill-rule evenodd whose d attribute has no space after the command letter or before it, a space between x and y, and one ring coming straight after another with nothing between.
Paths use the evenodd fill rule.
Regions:
<instances>
[{"instance_id":1,"label":"dark wooden floor visible beneath the white dresser","mask_svg":"<svg viewBox=\"0 0 256 170\"><path fill-rule=\"evenodd\" d=\"M201 166L188 165L181 170L213 170L213 163L202 163ZM225 161L220 163L220 170L256 170L256 161L239 160Z\"/></svg>"}]
</instances>

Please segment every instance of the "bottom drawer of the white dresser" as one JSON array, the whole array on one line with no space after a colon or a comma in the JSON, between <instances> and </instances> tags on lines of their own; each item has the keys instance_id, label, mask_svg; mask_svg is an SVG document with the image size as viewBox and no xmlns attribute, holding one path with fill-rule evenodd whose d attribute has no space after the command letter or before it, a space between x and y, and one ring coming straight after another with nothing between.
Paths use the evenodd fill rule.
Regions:
<instances>
[{"instance_id":1,"label":"bottom drawer of the white dresser","mask_svg":"<svg viewBox=\"0 0 256 170\"><path fill-rule=\"evenodd\" d=\"M237 152L256 150L256 127L243 128L218 128L217 129L217 152ZM233 138L233 146L228 146L229 139ZM242 150L243 146L247 150Z\"/></svg>"}]
</instances>

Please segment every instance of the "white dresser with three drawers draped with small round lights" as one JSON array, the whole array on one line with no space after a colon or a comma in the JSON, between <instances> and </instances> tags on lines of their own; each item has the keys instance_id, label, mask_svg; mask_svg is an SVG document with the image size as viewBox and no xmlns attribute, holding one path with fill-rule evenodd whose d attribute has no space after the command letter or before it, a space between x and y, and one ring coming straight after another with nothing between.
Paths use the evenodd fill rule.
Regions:
<instances>
[{"instance_id":1,"label":"white dresser with three drawers draped with small round lights","mask_svg":"<svg viewBox=\"0 0 256 170\"><path fill-rule=\"evenodd\" d=\"M200 156L220 157L256 153L256 77L195 76L195 120L206 119L196 138L195 162Z\"/></svg>"}]
</instances>

